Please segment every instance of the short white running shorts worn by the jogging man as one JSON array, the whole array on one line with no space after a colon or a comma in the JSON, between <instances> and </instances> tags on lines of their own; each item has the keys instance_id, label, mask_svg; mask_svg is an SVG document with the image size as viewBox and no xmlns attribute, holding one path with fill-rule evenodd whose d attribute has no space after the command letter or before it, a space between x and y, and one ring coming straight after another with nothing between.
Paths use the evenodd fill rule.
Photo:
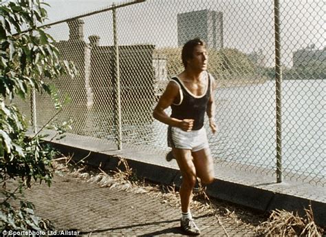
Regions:
<instances>
[{"instance_id":1,"label":"short white running shorts worn by the jogging man","mask_svg":"<svg viewBox=\"0 0 326 237\"><path fill-rule=\"evenodd\" d=\"M185 132L179 127L169 126L168 145L169 147L191 150L192 152L208 148L206 130L202 127L200 130Z\"/></svg>"}]
</instances>

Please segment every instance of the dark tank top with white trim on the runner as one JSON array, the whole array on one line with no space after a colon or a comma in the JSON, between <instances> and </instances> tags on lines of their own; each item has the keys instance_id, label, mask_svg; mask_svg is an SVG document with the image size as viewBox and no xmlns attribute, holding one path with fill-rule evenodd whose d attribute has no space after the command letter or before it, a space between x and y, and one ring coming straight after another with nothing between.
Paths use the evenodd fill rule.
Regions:
<instances>
[{"instance_id":1,"label":"dark tank top with white trim on the runner","mask_svg":"<svg viewBox=\"0 0 326 237\"><path fill-rule=\"evenodd\" d=\"M173 77L180 86L179 101L174 101L171 105L171 118L183 120L185 118L194 119L193 130L200 130L204 126L204 116L207 109L207 103L210 97L210 76L207 73L208 85L206 92L202 96L194 96L191 94L179 78ZM181 103L180 103L181 101Z\"/></svg>"}]
</instances>

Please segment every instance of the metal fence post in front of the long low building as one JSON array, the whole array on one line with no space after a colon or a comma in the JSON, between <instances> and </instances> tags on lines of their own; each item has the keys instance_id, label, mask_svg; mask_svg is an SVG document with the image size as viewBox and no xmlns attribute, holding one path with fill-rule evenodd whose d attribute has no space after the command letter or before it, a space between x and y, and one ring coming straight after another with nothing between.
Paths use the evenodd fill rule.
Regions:
<instances>
[{"instance_id":1,"label":"metal fence post in front of the long low building","mask_svg":"<svg viewBox=\"0 0 326 237\"><path fill-rule=\"evenodd\" d=\"M116 126L118 127L118 150L122 150L122 124L121 124L121 89L120 89L120 69L119 69L119 47L116 23L116 8L112 9L113 17L113 45L114 45L114 61L115 61L115 78L116 79Z\"/></svg>"}]
</instances>

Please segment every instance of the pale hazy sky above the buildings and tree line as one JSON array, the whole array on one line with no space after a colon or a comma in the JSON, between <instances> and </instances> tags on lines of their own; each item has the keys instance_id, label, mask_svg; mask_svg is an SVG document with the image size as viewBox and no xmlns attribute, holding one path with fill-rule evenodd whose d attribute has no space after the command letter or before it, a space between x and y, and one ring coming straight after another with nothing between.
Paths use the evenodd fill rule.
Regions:
<instances>
[{"instance_id":1,"label":"pale hazy sky above the buildings and tree line","mask_svg":"<svg viewBox=\"0 0 326 237\"><path fill-rule=\"evenodd\" d=\"M128 1L44 0L51 22L76 17ZM130 0L129 0L130 1ZM292 66L292 52L309 45L326 46L325 2L323 0L281 1L281 45L283 63ZM192 10L216 10L224 14L224 45L250 53L262 50L266 61L274 63L274 15L272 0L156 0L117 10L120 44L152 43L157 47L177 45L177 14ZM87 17L85 40L100 36L101 45L111 44L110 14ZM108 26L109 25L109 26ZM65 36L63 35L65 33ZM54 32L66 40L67 30ZM55 38L56 38L56 35Z\"/></svg>"}]
</instances>

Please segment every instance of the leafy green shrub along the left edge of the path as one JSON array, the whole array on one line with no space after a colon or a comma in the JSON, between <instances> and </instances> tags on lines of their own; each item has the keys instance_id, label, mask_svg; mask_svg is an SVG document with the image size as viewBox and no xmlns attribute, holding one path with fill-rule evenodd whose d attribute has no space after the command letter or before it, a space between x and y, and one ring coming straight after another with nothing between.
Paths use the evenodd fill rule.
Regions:
<instances>
[{"instance_id":1,"label":"leafy green shrub along the left edge of the path","mask_svg":"<svg viewBox=\"0 0 326 237\"><path fill-rule=\"evenodd\" d=\"M43 28L47 12L39 0L5 1L0 3L0 229L45 228L34 216L32 204L21 199L20 207L13 207L12 200L21 198L23 188L32 182L51 183L51 158L54 152L45 147L39 134L28 138L28 121L12 99L28 98L34 89L52 94L58 110L55 90L43 79L56 79L61 74L74 75L74 66L62 61L54 39ZM7 187L15 180L17 188ZM17 195L19 194L19 196Z\"/></svg>"}]
</instances>

